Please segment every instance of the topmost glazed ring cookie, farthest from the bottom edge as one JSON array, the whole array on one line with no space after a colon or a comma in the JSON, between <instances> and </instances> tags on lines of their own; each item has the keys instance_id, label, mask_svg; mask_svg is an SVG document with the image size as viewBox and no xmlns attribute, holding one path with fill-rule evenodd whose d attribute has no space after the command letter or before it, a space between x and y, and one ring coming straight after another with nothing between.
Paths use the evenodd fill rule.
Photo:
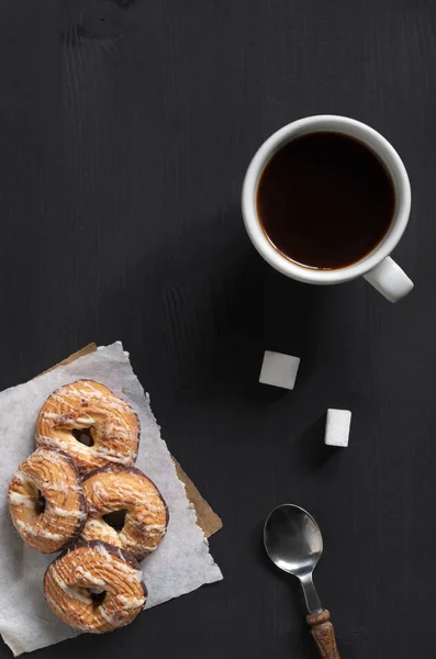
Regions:
<instances>
[{"instance_id":1,"label":"topmost glazed ring cookie, farthest from the bottom edge","mask_svg":"<svg viewBox=\"0 0 436 659\"><path fill-rule=\"evenodd\" d=\"M36 445L68 454L81 473L136 460L139 421L110 389L78 380L55 391L36 421Z\"/></svg>"}]
</instances>

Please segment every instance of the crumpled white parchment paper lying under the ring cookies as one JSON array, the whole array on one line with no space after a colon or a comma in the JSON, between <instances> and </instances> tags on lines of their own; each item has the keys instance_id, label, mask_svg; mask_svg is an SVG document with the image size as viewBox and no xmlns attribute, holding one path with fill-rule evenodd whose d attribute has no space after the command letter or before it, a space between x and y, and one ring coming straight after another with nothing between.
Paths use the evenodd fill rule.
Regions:
<instances>
[{"instance_id":1,"label":"crumpled white parchment paper lying under the ring cookies","mask_svg":"<svg viewBox=\"0 0 436 659\"><path fill-rule=\"evenodd\" d=\"M156 552L142 562L149 593L147 608L222 579L128 355L119 342L98 348L0 393L0 633L15 656L78 634L48 607L43 577L53 555L38 554L21 540L9 515L7 491L20 462L35 449L41 405L55 389L80 378L107 384L134 406L142 431L136 466L157 484L168 504L168 533Z\"/></svg>"}]
</instances>

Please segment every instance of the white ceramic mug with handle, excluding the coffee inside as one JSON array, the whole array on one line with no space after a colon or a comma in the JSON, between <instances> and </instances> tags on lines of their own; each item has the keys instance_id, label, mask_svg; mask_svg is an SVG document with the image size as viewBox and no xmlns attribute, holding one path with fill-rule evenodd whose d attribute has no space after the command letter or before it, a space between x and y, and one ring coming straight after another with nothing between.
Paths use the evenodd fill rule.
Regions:
<instances>
[{"instance_id":1,"label":"white ceramic mug with handle, excluding the coffee inside","mask_svg":"<svg viewBox=\"0 0 436 659\"><path fill-rule=\"evenodd\" d=\"M257 186L269 159L291 139L317 132L342 133L368 145L389 170L395 190L393 219L384 238L359 261L336 270L304 268L304 266L300 266L283 256L273 247L264 233L256 206ZM404 298L413 289L413 282L407 275L389 256L396 247L409 222L411 211L409 176L393 146L380 133L359 121L347 116L320 114L294 121L273 133L264 142L248 166L244 179L242 208L245 227L254 246L270 266L287 277L317 284L340 283L365 277L391 302Z\"/></svg>"}]
</instances>

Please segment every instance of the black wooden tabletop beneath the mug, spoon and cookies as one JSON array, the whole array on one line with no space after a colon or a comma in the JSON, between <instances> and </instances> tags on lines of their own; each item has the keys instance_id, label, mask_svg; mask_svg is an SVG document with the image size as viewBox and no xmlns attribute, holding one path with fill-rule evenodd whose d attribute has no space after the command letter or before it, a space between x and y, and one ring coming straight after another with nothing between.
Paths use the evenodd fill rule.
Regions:
<instances>
[{"instance_id":1,"label":"black wooden tabletop beneath the mug, spoon and cookies","mask_svg":"<svg viewBox=\"0 0 436 659\"><path fill-rule=\"evenodd\" d=\"M435 30L429 0L1 3L0 388L122 339L224 520L222 583L35 657L315 658L298 584L261 547L283 501L322 525L343 657L435 655ZM409 169L395 258L416 289L398 305L287 280L244 233L253 153L325 112ZM266 348L301 357L293 392L257 384ZM353 411L334 455L329 406Z\"/></svg>"}]
</instances>

